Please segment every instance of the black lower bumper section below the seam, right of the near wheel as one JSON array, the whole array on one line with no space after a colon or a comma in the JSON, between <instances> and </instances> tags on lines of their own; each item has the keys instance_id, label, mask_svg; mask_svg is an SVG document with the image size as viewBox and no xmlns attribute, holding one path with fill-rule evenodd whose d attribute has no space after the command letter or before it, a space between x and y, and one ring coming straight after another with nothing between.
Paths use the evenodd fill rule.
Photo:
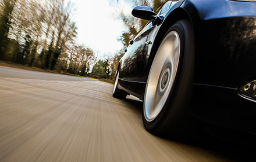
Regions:
<instances>
[{"instance_id":1,"label":"black lower bumper section below the seam, right of the near wheel","mask_svg":"<svg viewBox=\"0 0 256 162\"><path fill-rule=\"evenodd\" d=\"M209 123L256 134L255 102L237 95L236 89L194 85L192 115Z\"/></svg>"}]
</instances>

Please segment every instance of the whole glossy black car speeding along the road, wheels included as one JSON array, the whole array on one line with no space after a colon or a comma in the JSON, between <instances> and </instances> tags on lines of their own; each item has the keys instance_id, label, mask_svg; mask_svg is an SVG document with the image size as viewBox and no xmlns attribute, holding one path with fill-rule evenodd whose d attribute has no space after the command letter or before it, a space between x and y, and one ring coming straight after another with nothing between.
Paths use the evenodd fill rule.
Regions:
<instances>
[{"instance_id":1,"label":"whole glossy black car speeding along the road, wheels included","mask_svg":"<svg viewBox=\"0 0 256 162\"><path fill-rule=\"evenodd\" d=\"M153 134L186 138L195 117L217 137L256 139L256 1L169 1L132 14L149 22L120 60L113 97L143 100Z\"/></svg>"}]
</instances>

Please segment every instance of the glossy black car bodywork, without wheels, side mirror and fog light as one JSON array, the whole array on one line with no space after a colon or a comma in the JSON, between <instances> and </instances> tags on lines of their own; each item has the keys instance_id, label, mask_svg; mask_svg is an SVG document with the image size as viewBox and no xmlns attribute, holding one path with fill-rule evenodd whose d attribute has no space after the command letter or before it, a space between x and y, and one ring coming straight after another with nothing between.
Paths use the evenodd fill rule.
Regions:
<instances>
[{"instance_id":1,"label":"glossy black car bodywork, without wheels, side mirror and fog light","mask_svg":"<svg viewBox=\"0 0 256 162\"><path fill-rule=\"evenodd\" d=\"M256 100L237 93L256 79L256 3L229 0L173 1L134 39L120 61L120 88L143 100L145 84L161 36L179 19L191 21L195 76L191 111L195 117L256 134ZM152 44L146 45L145 42Z\"/></svg>"}]
</instances>

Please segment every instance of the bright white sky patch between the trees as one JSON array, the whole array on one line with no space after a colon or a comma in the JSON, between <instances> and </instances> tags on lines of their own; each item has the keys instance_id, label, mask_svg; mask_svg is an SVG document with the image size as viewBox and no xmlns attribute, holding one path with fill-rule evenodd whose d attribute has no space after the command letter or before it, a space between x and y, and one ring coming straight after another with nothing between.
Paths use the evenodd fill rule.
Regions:
<instances>
[{"instance_id":1,"label":"bright white sky patch between the trees","mask_svg":"<svg viewBox=\"0 0 256 162\"><path fill-rule=\"evenodd\" d=\"M126 31L122 20L118 19L118 10L123 8L131 13L131 8L123 1L113 0L72 0L74 2L74 21L77 23L77 42L84 44L96 53L98 59L113 56L122 49L118 38Z\"/></svg>"}]
</instances>

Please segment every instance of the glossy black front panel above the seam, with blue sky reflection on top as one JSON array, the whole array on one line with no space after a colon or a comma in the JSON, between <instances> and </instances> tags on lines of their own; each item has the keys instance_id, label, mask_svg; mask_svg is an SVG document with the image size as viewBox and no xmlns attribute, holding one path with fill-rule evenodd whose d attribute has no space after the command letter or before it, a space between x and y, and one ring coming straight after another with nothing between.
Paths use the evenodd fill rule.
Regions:
<instances>
[{"instance_id":1,"label":"glossy black front panel above the seam, with blue sky reflection on top","mask_svg":"<svg viewBox=\"0 0 256 162\"><path fill-rule=\"evenodd\" d=\"M256 78L256 3L214 2L182 5L195 22L195 83L237 88Z\"/></svg>"}]
</instances>

